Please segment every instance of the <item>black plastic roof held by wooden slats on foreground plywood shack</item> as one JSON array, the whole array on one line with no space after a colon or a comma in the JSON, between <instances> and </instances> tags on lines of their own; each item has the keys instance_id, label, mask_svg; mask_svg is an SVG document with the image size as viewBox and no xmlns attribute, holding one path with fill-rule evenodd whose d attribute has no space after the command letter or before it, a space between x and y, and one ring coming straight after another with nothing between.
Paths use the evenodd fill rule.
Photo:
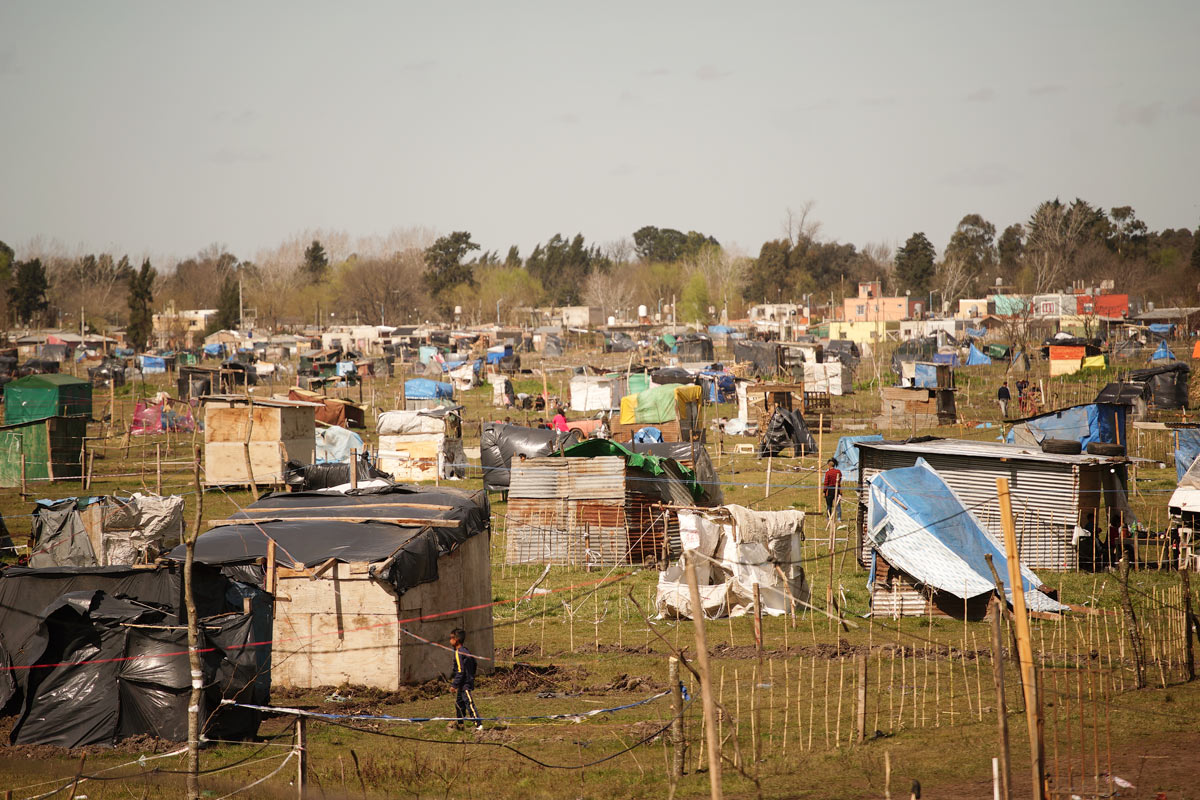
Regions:
<instances>
[{"instance_id":1,"label":"black plastic roof held by wooden slats on foreground plywood shack","mask_svg":"<svg viewBox=\"0 0 1200 800\"><path fill-rule=\"evenodd\" d=\"M256 509L269 511L254 513ZM222 567L250 564L266 558L270 540L276 542L275 563L287 567L298 564L313 567L329 559L344 563L392 559L386 575L376 577L386 581L401 595L413 587L437 581L438 558L487 530L490 515L484 492L415 486L359 489L347 494L277 492L232 517L257 522L222 525L205 533L196 543L196 560ZM308 517L355 517L364 522ZM379 522L370 522L370 518ZM457 525L426 528L388 522L397 518L449 519ZM181 561L184 555L185 549L180 546L167 558Z\"/></svg>"}]
</instances>

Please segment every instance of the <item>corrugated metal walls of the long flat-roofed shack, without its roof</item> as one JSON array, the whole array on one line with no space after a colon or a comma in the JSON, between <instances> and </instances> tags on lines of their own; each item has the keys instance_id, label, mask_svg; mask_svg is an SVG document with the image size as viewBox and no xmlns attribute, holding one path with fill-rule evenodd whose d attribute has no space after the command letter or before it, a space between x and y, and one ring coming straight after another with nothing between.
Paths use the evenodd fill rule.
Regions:
<instances>
[{"instance_id":1,"label":"corrugated metal walls of the long flat-roofed shack, without its roof","mask_svg":"<svg viewBox=\"0 0 1200 800\"><path fill-rule=\"evenodd\" d=\"M923 457L1000 542L1004 531L996 501L996 479L1007 477L1021 561L1034 570L1078 569L1079 555L1070 543L1079 519L1078 465L870 447L862 447L860 452L864 486L882 470L912 467ZM865 503L865 492L862 498ZM865 564L868 542L863 525L860 513L859 563Z\"/></svg>"}]
</instances>

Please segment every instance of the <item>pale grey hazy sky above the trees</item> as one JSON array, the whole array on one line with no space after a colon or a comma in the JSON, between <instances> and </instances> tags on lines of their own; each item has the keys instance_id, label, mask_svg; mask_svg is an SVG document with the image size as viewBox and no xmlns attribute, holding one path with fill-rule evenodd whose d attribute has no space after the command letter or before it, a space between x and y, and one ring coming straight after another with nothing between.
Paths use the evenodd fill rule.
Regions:
<instances>
[{"instance_id":1,"label":"pale grey hazy sky above the trees","mask_svg":"<svg viewBox=\"0 0 1200 800\"><path fill-rule=\"evenodd\" d=\"M1200 2L0 4L0 239L1200 223Z\"/></svg>"}]
</instances>

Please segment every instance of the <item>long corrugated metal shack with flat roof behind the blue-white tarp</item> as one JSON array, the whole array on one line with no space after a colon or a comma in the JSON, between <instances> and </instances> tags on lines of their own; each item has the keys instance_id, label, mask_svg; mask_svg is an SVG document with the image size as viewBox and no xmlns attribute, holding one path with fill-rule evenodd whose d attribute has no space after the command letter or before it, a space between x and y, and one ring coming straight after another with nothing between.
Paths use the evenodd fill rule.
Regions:
<instances>
[{"instance_id":1,"label":"long corrugated metal shack with flat roof behind the blue-white tarp","mask_svg":"<svg viewBox=\"0 0 1200 800\"><path fill-rule=\"evenodd\" d=\"M928 439L923 441L860 441L859 450L859 564L866 564L865 487L882 470L912 467L924 458L964 505L995 536L1003 536L996 505L996 479L1007 477L1016 522L1021 563L1031 569L1079 569L1073 545L1075 527L1106 527L1109 515L1133 521L1126 492L1127 458L1058 455L1037 447L998 441Z\"/></svg>"}]
</instances>

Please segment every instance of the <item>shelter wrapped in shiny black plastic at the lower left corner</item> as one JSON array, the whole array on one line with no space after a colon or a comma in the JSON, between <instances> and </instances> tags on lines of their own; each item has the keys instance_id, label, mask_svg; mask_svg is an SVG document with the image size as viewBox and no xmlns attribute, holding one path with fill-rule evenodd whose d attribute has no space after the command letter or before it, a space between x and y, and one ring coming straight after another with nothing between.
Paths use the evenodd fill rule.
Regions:
<instances>
[{"instance_id":1,"label":"shelter wrapped in shiny black plastic at the lower left corner","mask_svg":"<svg viewBox=\"0 0 1200 800\"><path fill-rule=\"evenodd\" d=\"M200 646L209 649L202 730L212 739L253 736L259 715L221 700L269 702L270 644L257 643L270 639L270 603L214 570L198 566L196 578ZM5 670L2 687L5 710L18 715L12 744L186 740L191 667L180 584L166 569L7 570L0 661L19 667ZM252 613L227 613L241 610L242 597L251 597Z\"/></svg>"}]
</instances>

